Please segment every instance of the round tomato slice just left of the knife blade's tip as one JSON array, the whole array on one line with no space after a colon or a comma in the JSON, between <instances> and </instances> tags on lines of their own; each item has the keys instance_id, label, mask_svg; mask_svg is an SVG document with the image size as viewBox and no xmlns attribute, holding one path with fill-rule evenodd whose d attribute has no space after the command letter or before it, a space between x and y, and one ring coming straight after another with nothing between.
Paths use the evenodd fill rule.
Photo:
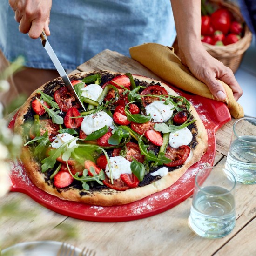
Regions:
<instances>
[{"instance_id":1,"label":"round tomato slice just left of the knife blade's tip","mask_svg":"<svg viewBox=\"0 0 256 256\"><path fill-rule=\"evenodd\" d=\"M75 101L75 97L63 86L54 93L54 101L59 105L61 111L67 112L69 108L73 107L72 102ZM79 104L76 103L74 107L79 108Z\"/></svg>"}]
</instances>

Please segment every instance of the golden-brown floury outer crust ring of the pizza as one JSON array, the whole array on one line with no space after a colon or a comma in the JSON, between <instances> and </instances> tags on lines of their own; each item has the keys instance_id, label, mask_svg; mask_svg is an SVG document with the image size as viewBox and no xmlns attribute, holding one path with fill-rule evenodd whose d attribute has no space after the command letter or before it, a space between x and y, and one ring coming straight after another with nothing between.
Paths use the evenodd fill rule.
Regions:
<instances>
[{"instance_id":1,"label":"golden-brown floury outer crust ring of the pizza","mask_svg":"<svg viewBox=\"0 0 256 256\"><path fill-rule=\"evenodd\" d=\"M110 71L95 71L95 73L110 73L115 74ZM71 79L81 79L81 77L86 76L87 74L91 74L92 72L82 72L79 74L71 75ZM168 85L156 81L155 79L150 79L144 76L134 75L134 78L139 80L143 80L151 83L152 81L155 83L160 83L162 87L164 87L168 94L179 96L176 94ZM58 85L54 88L54 90L58 89L61 85L61 78L57 78L54 80ZM54 82L52 81L52 82ZM48 82L42 85L39 89L44 91L45 88L52 82ZM38 89L37 89L38 90ZM35 90L31 96L27 99L24 105L20 108L19 114L17 115L15 121L15 132L24 135L24 115L27 114L29 108L31 108L31 101L34 99L34 96L37 94L37 90ZM187 161L182 165L181 168L175 169L174 171L168 172L168 175L148 184L143 187L137 187L134 189L128 189L125 191L116 191L114 189L106 188L101 189L100 191L86 191L79 190L74 188L64 188L57 189L53 185L52 182L47 182L47 177L44 173L41 172L40 163L36 161L33 152L31 151L30 146L26 146L22 148L22 154L20 156L21 161L23 162L25 169L27 171L28 177L32 180L32 182L40 189L46 191L51 195L55 195L64 200L71 200L76 202L84 202L88 204L101 205L101 206L111 206L111 205L120 205L127 204L130 202L135 202L142 198L145 198L149 195L152 195L156 192L167 189L171 185L173 185L182 175L186 172L186 170L193 165L195 162L198 162L202 155L207 151L208 143L207 143L207 132L204 128L202 121L200 120L199 115L197 114L195 108L191 105L190 111L194 118L196 119L196 126L198 130L198 134L196 136L198 144L195 148L192 149L192 156L187 159ZM83 195L81 195L81 191Z\"/></svg>"}]
</instances>

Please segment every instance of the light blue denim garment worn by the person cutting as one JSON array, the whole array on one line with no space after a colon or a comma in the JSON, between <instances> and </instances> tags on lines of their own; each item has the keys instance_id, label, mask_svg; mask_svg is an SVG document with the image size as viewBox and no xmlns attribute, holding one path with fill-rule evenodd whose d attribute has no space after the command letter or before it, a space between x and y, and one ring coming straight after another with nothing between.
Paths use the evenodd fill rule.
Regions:
<instances>
[{"instance_id":1,"label":"light blue denim garment worn by the person cutting","mask_svg":"<svg viewBox=\"0 0 256 256\"><path fill-rule=\"evenodd\" d=\"M0 49L9 61L55 69L40 39L19 32L8 0L0 0ZM53 0L49 43L65 69L75 69L110 49L129 56L147 42L172 46L176 32L170 0Z\"/></svg>"}]
</instances>

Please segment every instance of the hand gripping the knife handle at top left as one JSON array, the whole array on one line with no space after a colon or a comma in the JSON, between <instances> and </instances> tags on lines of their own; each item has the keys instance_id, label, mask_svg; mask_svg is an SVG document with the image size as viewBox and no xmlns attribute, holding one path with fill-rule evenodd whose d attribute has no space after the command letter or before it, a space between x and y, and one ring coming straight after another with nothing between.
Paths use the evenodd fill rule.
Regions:
<instances>
[{"instance_id":1,"label":"hand gripping the knife handle at top left","mask_svg":"<svg viewBox=\"0 0 256 256\"><path fill-rule=\"evenodd\" d=\"M50 35L50 11L52 0L9 0L15 13L15 20L20 23L21 33L28 33L31 38L38 38L43 30Z\"/></svg>"}]
</instances>

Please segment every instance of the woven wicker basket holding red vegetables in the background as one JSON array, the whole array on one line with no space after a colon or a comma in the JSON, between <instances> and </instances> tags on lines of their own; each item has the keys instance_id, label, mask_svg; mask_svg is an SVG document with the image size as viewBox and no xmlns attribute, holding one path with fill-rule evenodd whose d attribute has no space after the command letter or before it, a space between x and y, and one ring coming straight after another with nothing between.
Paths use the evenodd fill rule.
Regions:
<instances>
[{"instance_id":1,"label":"woven wicker basket holding red vegetables in the background","mask_svg":"<svg viewBox=\"0 0 256 256\"><path fill-rule=\"evenodd\" d=\"M209 2L219 7L226 7L231 13L233 13L235 20L244 22L243 16L237 5L224 0L209 0ZM243 54L251 44L251 40L252 33L250 32L249 27L245 25L242 38L234 44L227 46L215 46L207 43L202 44L209 54L221 61L225 66L229 67L233 73L235 73L243 59Z\"/></svg>"}]
</instances>

